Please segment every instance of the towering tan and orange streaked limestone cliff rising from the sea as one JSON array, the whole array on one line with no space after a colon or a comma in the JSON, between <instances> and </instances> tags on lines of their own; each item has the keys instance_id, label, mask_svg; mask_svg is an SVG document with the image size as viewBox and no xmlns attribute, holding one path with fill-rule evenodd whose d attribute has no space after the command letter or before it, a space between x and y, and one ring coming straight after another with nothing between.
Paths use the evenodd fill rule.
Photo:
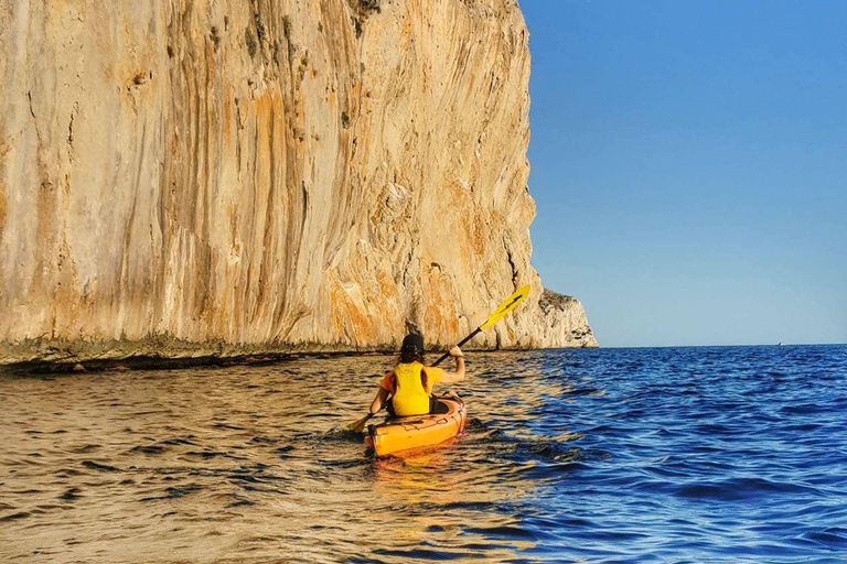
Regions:
<instances>
[{"instance_id":1,"label":"towering tan and orange streaked limestone cliff rising from the sea","mask_svg":"<svg viewBox=\"0 0 847 564\"><path fill-rule=\"evenodd\" d=\"M529 264L514 0L0 0L0 362L596 346Z\"/></svg>"}]
</instances>

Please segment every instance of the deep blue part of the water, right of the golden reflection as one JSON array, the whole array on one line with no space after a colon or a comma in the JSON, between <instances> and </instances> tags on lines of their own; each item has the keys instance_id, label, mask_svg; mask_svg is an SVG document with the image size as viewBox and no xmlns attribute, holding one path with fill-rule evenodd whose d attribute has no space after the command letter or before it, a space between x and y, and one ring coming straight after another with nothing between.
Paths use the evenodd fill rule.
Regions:
<instances>
[{"instance_id":1,"label":"deep blue part of the water, right of the golden reflection","mask_svg":"<svg viewBox=\"0 0 847 564\"><path fill-rule=\"evenodd\" d=\"M522 433L561 451L533 470L544 485L523 518L544 539L533 552L847 562L847 347L566 358L540 359L551 390ZM580 435L567 449L555 442L566 430Z\"/></svg>"}]
</instances>

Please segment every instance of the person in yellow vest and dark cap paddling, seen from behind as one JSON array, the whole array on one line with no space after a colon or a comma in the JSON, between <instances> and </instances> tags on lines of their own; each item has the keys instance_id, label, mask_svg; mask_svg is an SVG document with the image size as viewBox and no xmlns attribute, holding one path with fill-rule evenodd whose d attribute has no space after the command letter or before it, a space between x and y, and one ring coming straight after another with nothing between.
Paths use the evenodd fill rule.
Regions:
<instances>
[{"instance_id":1,"label":"person in yellow vest and dark cap paddling, seen from behind","mask_svg":"<svg viewBox=\"0 0 847 564\"><path fill-rule=\"evenodd\" d=\"M388 413L396 417L436 413L438 399L432 394L432 388L439 382L454 383L464 380L462 350L452 347L449 354L455 358L454 372L425 366L424 337L406 335L400 348L400 361L379 383L379 391L371 403L371 415L382 410L386 401Z\"/></svg>"}]
</instances>

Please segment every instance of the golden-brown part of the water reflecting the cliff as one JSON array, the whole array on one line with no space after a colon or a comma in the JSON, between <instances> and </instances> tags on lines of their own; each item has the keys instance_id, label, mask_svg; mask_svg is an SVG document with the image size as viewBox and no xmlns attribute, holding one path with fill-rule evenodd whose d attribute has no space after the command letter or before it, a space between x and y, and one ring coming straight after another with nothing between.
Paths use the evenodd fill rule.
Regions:
<instances>
[{"instance_id":1,"label":"golden-brown part of the water reflecting the cliff","mask_svg":"<svg viewBox=\"0 0 847 564\"><path fill-rule=\"evenodd\" d=\"M0 561L513 560L533 485L484 426L385 459L337 431L390 362L0 377Z\"/></svg>"}]
</instances>

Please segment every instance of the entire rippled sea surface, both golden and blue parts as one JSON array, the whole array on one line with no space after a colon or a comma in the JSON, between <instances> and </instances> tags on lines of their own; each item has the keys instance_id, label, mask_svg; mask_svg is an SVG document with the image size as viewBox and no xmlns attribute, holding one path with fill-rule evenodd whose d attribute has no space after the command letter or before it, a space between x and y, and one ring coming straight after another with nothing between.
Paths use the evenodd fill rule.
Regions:
<instances>
[{"instance_id":1,"label":"entire rippled sea surface, both golden and blue parts","mask_svg":"<svg viewBox=\"0 0 847 564\"><path fill-rule=\"evenodd\" d=\"M467 358L465 433L386 458L387 356L7 370L0 562L847 562L847 346Z\"/></svg>"}]
</instances>

